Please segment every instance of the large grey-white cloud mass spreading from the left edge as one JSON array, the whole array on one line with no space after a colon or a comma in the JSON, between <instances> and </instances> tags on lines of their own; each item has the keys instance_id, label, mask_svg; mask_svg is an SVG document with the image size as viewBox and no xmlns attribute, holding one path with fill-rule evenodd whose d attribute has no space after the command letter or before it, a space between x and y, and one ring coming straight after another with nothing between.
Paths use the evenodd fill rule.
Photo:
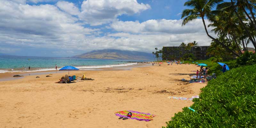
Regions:
<instances>
[{"instance_id":1,"label":"large grey-white cloud mass spreading from the left edge","mask_svg":"<svg viewBox=\"0 0 256 128\"><path fill-rule=\"evenodd\" d=\"M83 27L55 5L2 0L0 6L0 42L10 46L75 48L86 35L99 31Z\"/></svg>"}]
</instances>

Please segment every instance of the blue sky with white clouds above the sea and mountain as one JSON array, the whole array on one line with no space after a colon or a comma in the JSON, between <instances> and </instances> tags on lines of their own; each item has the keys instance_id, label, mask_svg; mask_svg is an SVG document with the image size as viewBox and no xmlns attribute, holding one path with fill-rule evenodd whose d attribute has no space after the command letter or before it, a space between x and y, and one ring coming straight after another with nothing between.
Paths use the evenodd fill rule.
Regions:
<instances>
[{"instance_id":1,"label":"blue sky with white clouds above the sea and mountain","mask_svg":"<svg viewBox=\"0 0 256 128\"><path fill-rule=\"evenodd\" d=\"M0 0L0 53L70 57L100 49L151 53L181 42L210 45L201 19L181 26L185 2Z\"/></svg>"}]
</instances>

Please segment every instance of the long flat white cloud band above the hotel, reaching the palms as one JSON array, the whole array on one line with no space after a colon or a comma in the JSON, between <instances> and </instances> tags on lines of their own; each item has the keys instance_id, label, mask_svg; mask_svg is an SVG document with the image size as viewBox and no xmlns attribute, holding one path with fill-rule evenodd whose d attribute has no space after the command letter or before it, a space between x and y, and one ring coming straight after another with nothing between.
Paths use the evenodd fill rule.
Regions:
<instances>
[{"instance_id":1,"label":"long flat white cloud band above the hotel, reaching the palms","mask_svg":"<svg viewBox=\"0 0 256 128\"><path fill-rule=\"evenodd\" d=\"M139 21L116 21L111 24L111 27L116 31L130 33L205 33L201 19L196 19L193 22L181 26L182 20L147 20L140 23ZM206 24L208 21L206 20ZM211 30L211 28L209 28Z\"/></svg>"}]
</instances>

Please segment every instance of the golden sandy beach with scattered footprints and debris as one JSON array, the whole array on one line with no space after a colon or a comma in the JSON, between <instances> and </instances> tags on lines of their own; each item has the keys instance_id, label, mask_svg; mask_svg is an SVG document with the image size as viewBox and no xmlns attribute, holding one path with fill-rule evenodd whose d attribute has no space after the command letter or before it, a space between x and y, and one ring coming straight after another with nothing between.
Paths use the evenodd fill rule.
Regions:
<instances>
[{"instance_id":1,"label":"golden sandy beach with scattered footprints and debris","mask_svg":"<svg viewBox=\"0 0 256 128\"><path fill-rule=\"evenodd\" d=\"M192 101L168 96L198 95L206 83L188 83L195 65L135 67L131 70L71 71L95 79L58 84L67 72L0 82L1 128L161 128ZM156 115L153 120L119 120L116 111Z\"/></svg>"}]
</instances>

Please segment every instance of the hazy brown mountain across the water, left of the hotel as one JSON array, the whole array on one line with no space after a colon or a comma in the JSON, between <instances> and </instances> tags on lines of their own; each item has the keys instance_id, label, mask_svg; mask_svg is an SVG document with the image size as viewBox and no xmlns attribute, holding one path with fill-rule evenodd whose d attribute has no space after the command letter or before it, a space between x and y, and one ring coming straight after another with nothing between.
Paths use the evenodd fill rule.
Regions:
<instances>
[{"instance_id":1,"label":"hazy brown mountain across the water, left of the hotel","mask_svg":"<svg viewBox=\"0 0 256 128\"><path fill-rule=\"evenodd\" d=\"M75 55L72 58L119 59L119 60L154 60L152 53L103 49Z\"/></svg>"}]
</instances>

